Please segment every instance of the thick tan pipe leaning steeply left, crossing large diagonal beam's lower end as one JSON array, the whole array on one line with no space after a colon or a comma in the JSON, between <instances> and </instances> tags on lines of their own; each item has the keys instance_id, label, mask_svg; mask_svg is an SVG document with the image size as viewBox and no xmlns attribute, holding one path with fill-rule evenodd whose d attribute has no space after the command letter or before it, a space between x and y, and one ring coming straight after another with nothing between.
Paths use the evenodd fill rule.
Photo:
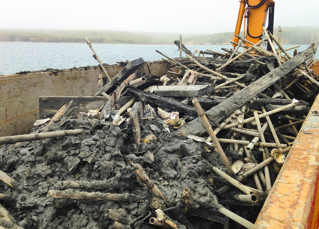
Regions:
<instances>
[{"instance_id":1,"label":"thick tan pipe leaning steeply left, crossing large diagonal beam's lower end","mask_svg":"<svg viewBox=\"0 0 319 229\"><path fill-rule=\"evenodd\" d=\"M216 137L213 129L211 128L211 125L209 124L209 122L206 118L206 115L204 113L203 108L201 107L201 105L199 104L197 99L193 99L192 103L194 104L194 107L198 113L198 116L202 119L202 122L203 122L209 136L211 137L211 140L214 143L215 149L216 149L217 153L219 154L220 158L222 159L222 161L223 161L223 163L228 171L228 174L232 176L234 174L234 171L233 171L231 165L229 164L229 161L228 161L222 147L220 146L219 141L217 140L217 137Z\"/></svg>"}]
</instances>

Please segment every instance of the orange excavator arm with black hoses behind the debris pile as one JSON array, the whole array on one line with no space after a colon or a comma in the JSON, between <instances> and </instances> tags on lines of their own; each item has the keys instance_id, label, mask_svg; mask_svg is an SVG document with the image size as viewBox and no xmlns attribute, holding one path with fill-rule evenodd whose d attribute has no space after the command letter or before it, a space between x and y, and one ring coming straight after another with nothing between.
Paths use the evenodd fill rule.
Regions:
<instances>
[{"instance_id":1,"label":"orange excavator arm with black hoses behind the debris pile","mask_svg":"<svg viewBox=\"0 0 319 229\"><path fill-rule=\"evenodd\" d=\"M272 0L240 0L240 7L235 28L235 34L240 33L243 18L247 19L247 27L244 33L247 34L247 40L256 44L263 37L263 26L266 23L266 17L269 12L268 30L273 32L273 14L275 3ZM246 13L245 13L246 12ZM245 13L245 16L244 16ZM233 42L238 43L238 38L234 36ZM246 44L250 47L250 44ZM235 44L233 44L236 47Z\"/></svg>"}]
</instances>

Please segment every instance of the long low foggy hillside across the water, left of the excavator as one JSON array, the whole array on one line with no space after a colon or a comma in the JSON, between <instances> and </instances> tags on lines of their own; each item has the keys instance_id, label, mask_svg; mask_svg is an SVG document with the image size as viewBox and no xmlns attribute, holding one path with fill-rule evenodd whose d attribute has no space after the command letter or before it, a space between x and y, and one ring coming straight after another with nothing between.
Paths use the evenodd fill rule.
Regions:
<instances>
[{"instance_id":1,"label":"long low foggy hillside across the water, left of the excavator","mask_svg":"<svg viewBox=\"0 0 319 229\"><path fill-rule=\"evenodd\" d=\"M198 33L185 33L183 38ZM86 42L106 44L172 44L178 33L130 32L114 30L0 29L0 41Z\"/></svg>"}]
</instances>

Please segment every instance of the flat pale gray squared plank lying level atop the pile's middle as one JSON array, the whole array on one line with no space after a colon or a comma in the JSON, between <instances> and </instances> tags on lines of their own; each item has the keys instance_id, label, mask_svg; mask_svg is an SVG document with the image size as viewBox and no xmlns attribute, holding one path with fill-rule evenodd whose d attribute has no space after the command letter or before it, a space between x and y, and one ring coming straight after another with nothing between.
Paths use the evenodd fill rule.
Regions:
<instances>
[{"instance_id":1,"label":"flat pale gray squared plank lying level atop the pile's middle","mask_svg":"<svg viewBox=\"0 0 319 229\"><path fill-rule=\"evenodd\" d=\"M150 91L163 97L201 97L214 91L213 85L154 86Z\"/></svg>"}]
</instances>

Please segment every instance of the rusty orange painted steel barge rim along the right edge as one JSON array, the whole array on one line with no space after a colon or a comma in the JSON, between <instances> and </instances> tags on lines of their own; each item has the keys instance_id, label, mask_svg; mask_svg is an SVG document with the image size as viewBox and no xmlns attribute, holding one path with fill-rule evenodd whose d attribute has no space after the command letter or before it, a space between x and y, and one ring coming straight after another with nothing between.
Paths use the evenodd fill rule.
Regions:
<instances>
[{"instance_id":1,"label":"rusty orange painted steel barge rim along the right edge","mask_svg":"<svg viewBox=\"0 0 319 229\"><path fill-rule=\"evenodd\" d=\"M255 229L318 228L319 96L282 166Z\"/></svg>"}]
</instances>

